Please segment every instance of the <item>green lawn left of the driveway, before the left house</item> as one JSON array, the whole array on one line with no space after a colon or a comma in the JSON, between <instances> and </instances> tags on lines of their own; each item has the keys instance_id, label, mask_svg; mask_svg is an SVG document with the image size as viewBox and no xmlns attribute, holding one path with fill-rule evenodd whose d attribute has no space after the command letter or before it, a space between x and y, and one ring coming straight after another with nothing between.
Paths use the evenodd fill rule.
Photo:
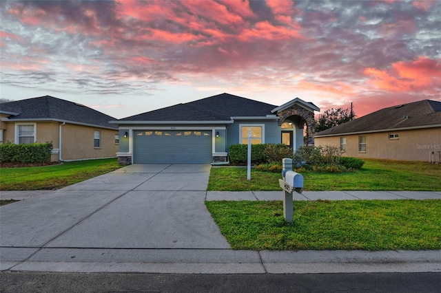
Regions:
<instances>
[{"instance_id":1,"label":"green lawn left of the driveway, before the left house","mask_svg":"<svg viewBox=\"0 0 441 293\"><path fill-rule=\"evenodd\" d=\"M1 168L1 191L50 190L121 168L116 158L65 162L59 165Z\"/></svg>"}]
</instances>

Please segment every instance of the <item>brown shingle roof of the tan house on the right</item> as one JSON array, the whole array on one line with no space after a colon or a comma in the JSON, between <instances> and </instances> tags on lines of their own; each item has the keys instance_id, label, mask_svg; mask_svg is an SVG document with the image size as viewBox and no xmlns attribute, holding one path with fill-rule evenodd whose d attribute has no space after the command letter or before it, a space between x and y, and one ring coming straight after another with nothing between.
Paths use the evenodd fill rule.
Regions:
<instances>
[{"instance_id":1,"label":"brown shingle roof of the tan house on the right","mask_svg":"<svg viewBox=\"0 0 441 293\"><path fill-rule=\"evenodd\" d=\"M316 136L371 132L441 125L441 102L420 100L384 108L336 127L316 133Z\"/></svg>"}]
</instances>

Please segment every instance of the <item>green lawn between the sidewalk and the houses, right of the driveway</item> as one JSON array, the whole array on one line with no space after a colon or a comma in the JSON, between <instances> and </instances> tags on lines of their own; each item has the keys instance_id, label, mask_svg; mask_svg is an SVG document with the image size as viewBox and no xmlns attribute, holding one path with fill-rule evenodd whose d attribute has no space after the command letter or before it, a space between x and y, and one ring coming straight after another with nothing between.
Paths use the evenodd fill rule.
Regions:
<instances>
[{"instance_id":1,"label":"green lawn between the sidewalk and the houses, right of the driveway","mask_svg":"<svg viewBox=\"0 0 441 293\"><path fill-rule=\"evenodd\" d=\"M362 169L346 173L302 172L305 191L441 191L441 164L365 160ZM209 191L279 191L280 173L240 167L212 168Z\"/></svg>"}]
</instances>

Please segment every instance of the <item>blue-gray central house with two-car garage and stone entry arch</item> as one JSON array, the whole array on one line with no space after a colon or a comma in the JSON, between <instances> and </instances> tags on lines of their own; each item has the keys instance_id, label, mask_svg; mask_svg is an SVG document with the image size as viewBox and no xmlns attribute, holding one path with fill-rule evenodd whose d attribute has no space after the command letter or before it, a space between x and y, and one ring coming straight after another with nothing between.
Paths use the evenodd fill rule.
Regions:
<instances>
[{"instance_id":1,"label":"blue-gray central house with two-car garage and stone entry arch","mask_svg":"<svg viewBox=\"0 0 441 293\"><path fill-rule=\"evenodd\" d=\"M314 144L314 111L295 98L277 107L231 94L219 94L112 121L119 125L119 162L128 164L207 164L227 162L231 144Z\"/></svg>"}]
</instances>

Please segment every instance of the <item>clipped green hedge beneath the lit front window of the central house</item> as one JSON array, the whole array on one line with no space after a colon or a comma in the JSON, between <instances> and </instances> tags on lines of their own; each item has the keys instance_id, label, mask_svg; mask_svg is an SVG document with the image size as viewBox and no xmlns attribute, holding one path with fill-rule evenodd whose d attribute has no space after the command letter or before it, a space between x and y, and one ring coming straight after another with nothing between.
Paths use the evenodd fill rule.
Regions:
<instances>
[{"instance_id":1,"label":"clipped green hedge beneath the lit front window of the central house","mask_svg":"<svg viewBox=\"0 0 441 293\"><path fill-rule=\"evenodd\" d=\"M252 144L252 164L282 162L283 158L292 158L292 149L285 144ZM246 165L248 160L247 144L229 146L229 162L234 165Z\"/></svg>"}]
</instances>

